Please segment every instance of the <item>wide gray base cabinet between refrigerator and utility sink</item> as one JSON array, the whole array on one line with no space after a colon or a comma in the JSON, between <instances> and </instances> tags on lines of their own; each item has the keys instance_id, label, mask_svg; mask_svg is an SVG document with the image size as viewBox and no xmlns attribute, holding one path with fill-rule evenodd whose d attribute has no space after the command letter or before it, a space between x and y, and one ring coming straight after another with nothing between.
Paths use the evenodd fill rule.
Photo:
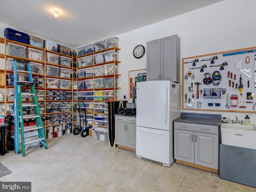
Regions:
<instances>
[{"instance_id":1,"label":"wide gray base cabinet between refrigerator and utility sink","mask_svg":"<svg viewBox=\"0 0 256 192\"><path fill-rule=\"evenodd\" d=\"M174 122L174 159L218 170L218 126Z\"/></svg>"}]
</instances>

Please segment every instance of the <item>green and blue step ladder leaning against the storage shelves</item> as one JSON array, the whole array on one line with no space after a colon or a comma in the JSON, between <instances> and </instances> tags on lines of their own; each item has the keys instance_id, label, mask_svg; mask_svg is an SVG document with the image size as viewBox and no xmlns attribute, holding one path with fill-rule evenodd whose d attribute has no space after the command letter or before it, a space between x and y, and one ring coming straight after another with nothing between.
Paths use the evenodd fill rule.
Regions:
<instances>
[{"instance_id":1,"label":"green and blue step ladder leaning against the storage shelves","mask_svg":"<svg viewBox=\"0 0 256 192\"><path fill-rule=\"evenodd\" d=\"M27 70L18 70L17 69L17 61L26 63ZM38 143L40 147L45 146L48 149L46 136L44 132L44 126L40 114L40 109L38 106L36 91L34 87L34 82L32 78L32 72L30 68L30 62L25 60L15 60L13 64L13 74L14 74L14 150L16 154L20 153L22 150L22 156L25 155L25 150L31 143ZM27 81L18 80L18 75L26 75ZM31 92L22 92L22 85L26 86L26 88L30 88ZM23 102L22 98L32 98L32 102ZM34 114L24 114L22 112L23 107L34 108ZM35 119L36 125L34 126L24 126L24 120ZM30 136L25 137L24 132L28 131L38 131L38 136Z\"/></svg>"}]
</instances>

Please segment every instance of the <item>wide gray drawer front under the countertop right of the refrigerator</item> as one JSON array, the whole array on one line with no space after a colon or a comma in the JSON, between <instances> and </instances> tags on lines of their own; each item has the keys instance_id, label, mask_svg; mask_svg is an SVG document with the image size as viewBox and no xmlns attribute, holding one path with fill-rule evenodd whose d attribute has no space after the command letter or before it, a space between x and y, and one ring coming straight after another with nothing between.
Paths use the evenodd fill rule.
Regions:
<instances>
[{"instance_id":1,"label":"wide gray drawer front under the countertop right of the refrigerator","mask_svg":"<svg viewBox=\"0 0 256 192\"><path fill-rule=\"evenodd\" d=\"M174 129L218 134L218 126L214 125L174 122Z\"/></svg>"}]
</instances>

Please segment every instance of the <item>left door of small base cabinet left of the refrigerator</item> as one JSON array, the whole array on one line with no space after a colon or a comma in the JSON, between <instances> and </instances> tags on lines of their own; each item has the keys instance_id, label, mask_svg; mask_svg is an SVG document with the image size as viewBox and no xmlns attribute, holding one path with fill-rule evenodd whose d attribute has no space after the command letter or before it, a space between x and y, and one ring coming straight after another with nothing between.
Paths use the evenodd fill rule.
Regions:
<instances>
[{"instance_id":1,"label":"left door of small base cabinet left of the refrigerator","mask_svg":"<svg viewBox=\"0 0 256 192\"><path fill-rule=\"evenodd\" d=\"M115 141L117 145L126 146L126 123L115 122Z\"/></svg>"}]
</instances>

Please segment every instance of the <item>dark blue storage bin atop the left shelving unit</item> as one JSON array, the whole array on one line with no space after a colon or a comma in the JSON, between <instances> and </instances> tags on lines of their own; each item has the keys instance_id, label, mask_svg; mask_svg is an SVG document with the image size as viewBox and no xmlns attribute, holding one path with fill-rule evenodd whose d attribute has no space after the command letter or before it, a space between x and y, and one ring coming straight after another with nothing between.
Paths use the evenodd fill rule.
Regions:
<instances>
[{"instance_id":1,"label":"dark blue storage bin atop the left shelving unit","mask_svg":"<svg viewBox=\"0 0 256 192\"><path fill-rule=\"evenodd\" d=\"M4 36L7 39L28 44L28 34L11 28L4 29Z\"/></svg>"}]
</instances>

